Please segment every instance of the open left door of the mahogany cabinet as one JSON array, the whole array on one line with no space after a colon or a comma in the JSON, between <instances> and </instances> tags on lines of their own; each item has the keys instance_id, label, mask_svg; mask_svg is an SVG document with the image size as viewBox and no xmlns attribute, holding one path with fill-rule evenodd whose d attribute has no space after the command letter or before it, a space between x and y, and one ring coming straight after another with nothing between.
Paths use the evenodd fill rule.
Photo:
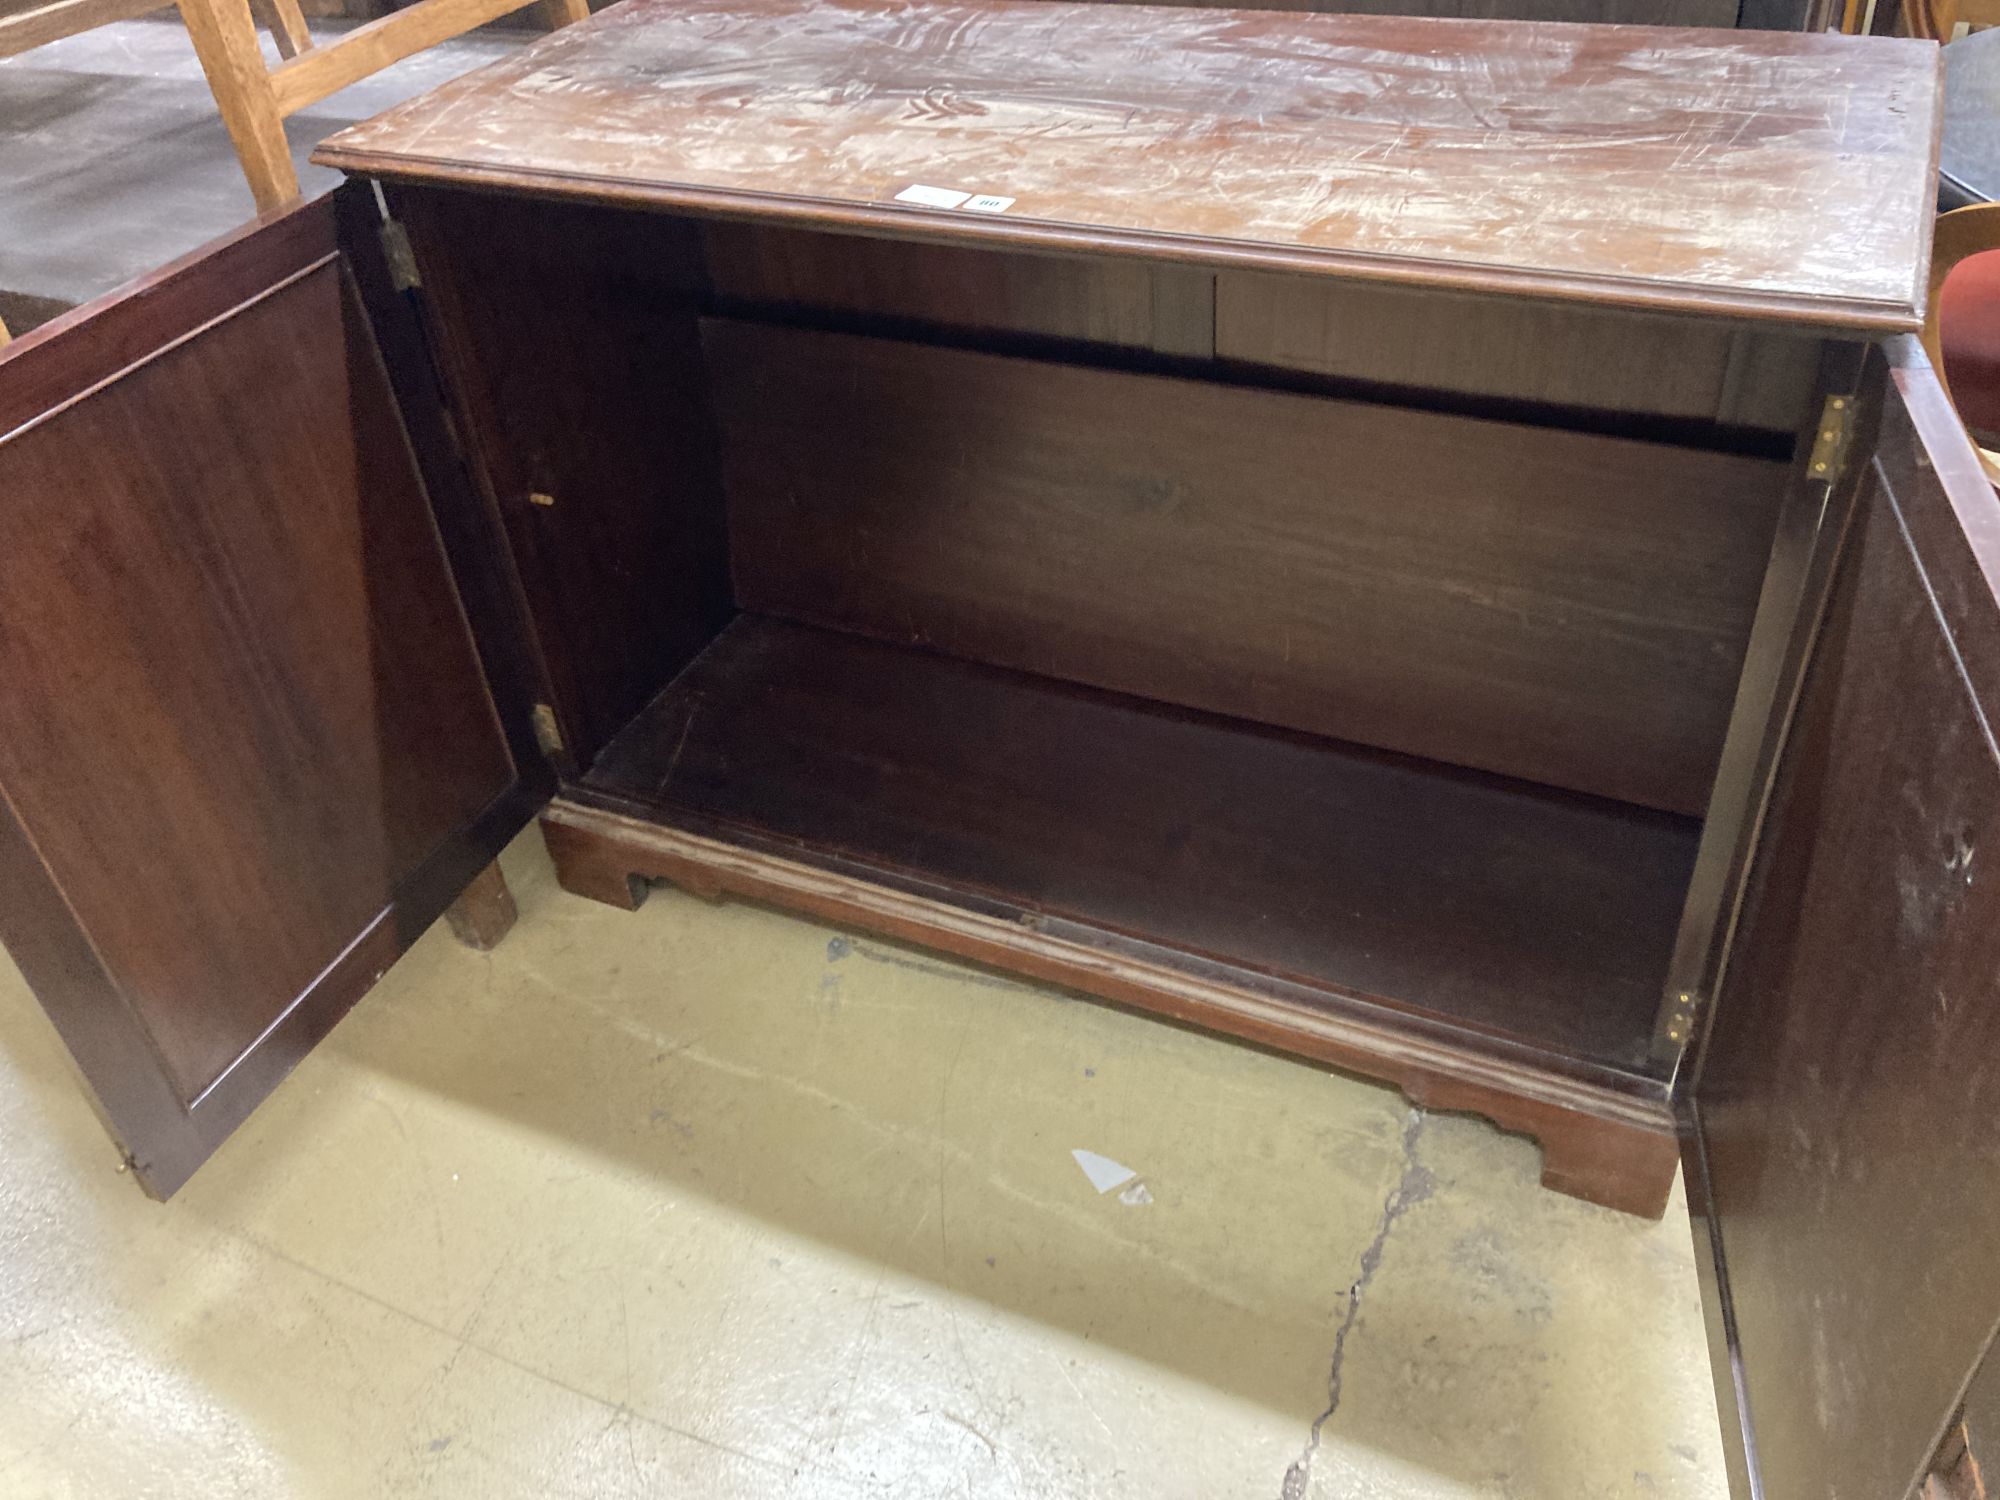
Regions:
<instances>
[{"instance_id":1,"label":"open left door of the mahogany cabinet","mask_svg":"<svg viewBox=\"0 0 2000 1500\"><path fill-rule=\"evenodd\" d=\"M392 384L380 244L336 236L362 208L0 354L0 940L158 1196L538 802L440 540L476 518L432 512L464 480L398 406L428 374Z\"/></svg>"}]
</instances>

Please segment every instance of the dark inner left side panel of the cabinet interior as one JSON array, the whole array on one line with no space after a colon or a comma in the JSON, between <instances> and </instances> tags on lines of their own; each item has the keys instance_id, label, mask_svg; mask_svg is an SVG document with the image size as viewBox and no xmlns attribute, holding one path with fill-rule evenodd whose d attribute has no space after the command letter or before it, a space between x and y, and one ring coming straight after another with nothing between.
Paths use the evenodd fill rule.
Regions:
<instances>
[{"instance_id":1,"label":"dark inner left side panel of the cabinet interior","mask_svg":"<svg viewBox=\"0 0 2000 1500\"><path fill-rule=\"evenodd\" d=\"M732 614L698 230L458 192L392 204L568 758L588 764Z\"/></svg>"}]
</instances>

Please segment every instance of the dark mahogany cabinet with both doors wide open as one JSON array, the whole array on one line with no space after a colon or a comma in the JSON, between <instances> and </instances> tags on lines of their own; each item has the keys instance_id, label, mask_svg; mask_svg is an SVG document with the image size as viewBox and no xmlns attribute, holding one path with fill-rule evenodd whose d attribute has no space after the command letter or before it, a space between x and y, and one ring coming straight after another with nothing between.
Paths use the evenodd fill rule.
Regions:
<instances>
[{"instance_id":1,"label":"dark mahogany cabinet with both doors wide open","mask_svg":"<svg viewBox=\"0 0 2000 1500\"><path fill-rule=\"evenodd\" d=\"M170 1194L536 812L1688 1174L1738 1484L2000 1320L2000 502L1886 38L630 0L0 356L0 936Z\"/></svg>"}]
</instances>

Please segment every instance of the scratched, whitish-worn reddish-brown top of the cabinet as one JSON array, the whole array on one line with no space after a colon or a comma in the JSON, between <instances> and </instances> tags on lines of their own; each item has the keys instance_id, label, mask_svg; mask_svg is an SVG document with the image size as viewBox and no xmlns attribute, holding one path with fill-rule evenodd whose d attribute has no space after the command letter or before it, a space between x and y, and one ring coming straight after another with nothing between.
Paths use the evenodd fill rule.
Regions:
<instances>
[{"instance_id":1,"label":"scratched, whitish-worn reddish-brown top of the cabinet","mask_svg":"<svg viewBox=\"0 0 2000 1500\"><path fill-rule=\"evenodd\" d=\"M626 0L332 136L316 160L870 234L1888 330L1922 320L1938 80L1938 48L1892 38ZM940 206L898 200L910 188Z\"/></svg>"}]
</instances>

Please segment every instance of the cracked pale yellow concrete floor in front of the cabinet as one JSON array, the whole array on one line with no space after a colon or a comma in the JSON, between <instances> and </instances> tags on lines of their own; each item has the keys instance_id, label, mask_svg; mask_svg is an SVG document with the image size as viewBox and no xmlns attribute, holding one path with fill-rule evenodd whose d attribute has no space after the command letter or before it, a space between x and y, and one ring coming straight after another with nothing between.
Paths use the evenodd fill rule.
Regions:
<instances>
[{"instance_id":1,"label":"cracked pale yellow concrete floor in front of the cabinet","mask_svg":"<svg viewBox=\"0 0 2000 1500\"><path fill-rule=\"evenodd\" d=\"M594 906L532 834L506 864L508 942L428 934L166 1206L0 966L0 1494L1724 1494L1678 1200L754 906Z\"/></svg>"}]
</instances>

